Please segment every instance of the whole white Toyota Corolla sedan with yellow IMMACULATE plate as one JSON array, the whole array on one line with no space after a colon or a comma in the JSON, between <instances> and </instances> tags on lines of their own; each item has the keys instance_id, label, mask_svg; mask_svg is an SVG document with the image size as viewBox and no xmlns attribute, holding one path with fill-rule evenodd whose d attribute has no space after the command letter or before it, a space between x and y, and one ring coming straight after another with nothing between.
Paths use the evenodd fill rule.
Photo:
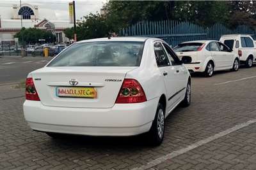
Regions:
<instances>
[{"instance_id":1,"label":"whole white Toyota Corolla sedan with yellow IMMACULATE plate","mask_svg":"<svg viewBox=\"0 0 256 170\"><path fill-rule=\"evenodd\" d=\"M159 145L164 118L189 106L191 78L157 38L100 38L69 46L28 74L24 116L31 129L60 134L132 136Z\"/></svg>"}]
</instances>

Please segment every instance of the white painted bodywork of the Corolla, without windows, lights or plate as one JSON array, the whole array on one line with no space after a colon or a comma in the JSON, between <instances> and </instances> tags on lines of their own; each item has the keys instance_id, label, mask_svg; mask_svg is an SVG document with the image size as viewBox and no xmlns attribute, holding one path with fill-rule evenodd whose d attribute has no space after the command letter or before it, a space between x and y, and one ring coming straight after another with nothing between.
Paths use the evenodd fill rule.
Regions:
<instances>
[{"instance_id":1,"label":"white painted bodywork of the Corolla, without windows, lights or plate","mask_svg":"<svg viewBox=\"0 0 256 170\"><path fill-rule=\"evenodd\" d=\"M97 41L145 41L141 64L138 67L43 67L29 73L35 83L41 101L26 100L24 117L31 129L42 132L60 132L92 136L131 136L148 132L156 115L161 96L166 97L166 115L184 99L190 74L184 65L169 66L168 76L164 67L158 67L154 54L156 38L107 38ZM67 50L67 48L65 49ZM176 70L179 69L179 73ZM167 70L167 69L166 69ZM175 72L175 73L174 73ZM41 78L35 81L35 78ZM97 89L97 99L60 98L54 96L54 87L70 86L68 80L76 78L82 86ZM106 78L122 81L106 82ZM147 101L143 103L116 104L116 97L124 78L138 80ZM169 79L168 85L164 84ZM91 84L90 84L91 83ZM172 102L171 94L177 93ZM174 100L175 99L175 100Z\"/></svg>"}]
</instances>

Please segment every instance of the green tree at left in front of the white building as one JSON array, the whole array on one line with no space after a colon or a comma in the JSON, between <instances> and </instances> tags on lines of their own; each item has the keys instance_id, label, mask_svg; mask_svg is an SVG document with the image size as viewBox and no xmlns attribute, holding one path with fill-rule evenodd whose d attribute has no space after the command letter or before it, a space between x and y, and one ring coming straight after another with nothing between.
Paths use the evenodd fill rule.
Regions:
<instances>
[{"instance_id":1,"label":"green tree at left in front of the white building","mask_svg":"<svg viewBox=\"0 0 256 170\"><path fill-rule=\"evenodd\" d=\"M42 29L24 27L15 34L15 38L19 38L20 43L35 44L38 43L38 39L45 39L46 43L53 43L56 41L56 36L51 31L45 31Z\"/></svg>"}]
</instances>

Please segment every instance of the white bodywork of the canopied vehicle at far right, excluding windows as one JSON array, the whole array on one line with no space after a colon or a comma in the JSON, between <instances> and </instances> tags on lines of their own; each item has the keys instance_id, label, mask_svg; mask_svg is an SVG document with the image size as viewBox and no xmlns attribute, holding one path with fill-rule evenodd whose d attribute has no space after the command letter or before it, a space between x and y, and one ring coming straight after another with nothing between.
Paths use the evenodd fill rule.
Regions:
<instances>
[{"instance_id":1,"label":"white bodywork of the canopied vehicle at far right, excluding windows","mask_svg":"<svg viewBox=\"0 0 256 170\"><path fill-rule=\"evenodd\" d=\"M248 37L252 39L254 47L242 47L241 45L241 37ZM239 57L239 59L243 62L245 62L250 55L253 56L253 62L256 62L256 45L255 41L250 35L243 35L243 34L230 34L230 35L225 35L221 36L220 41L221 43L224 43L225 40L232 39L234 40L234 45L233 45L233 53L235 53L238 56L238 51L242 51L242 56ZM239 41L239 47L236 47L236 41Z\"/></svg>"}]
</instances>

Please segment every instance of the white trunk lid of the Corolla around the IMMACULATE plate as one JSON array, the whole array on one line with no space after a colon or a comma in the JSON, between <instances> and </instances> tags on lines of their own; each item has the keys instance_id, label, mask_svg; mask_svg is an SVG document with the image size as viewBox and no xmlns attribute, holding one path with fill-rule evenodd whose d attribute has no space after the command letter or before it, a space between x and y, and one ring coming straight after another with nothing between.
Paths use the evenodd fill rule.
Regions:
<instances>
[{"instance_id":1,"label":"white trunk lid of the Corolla around the IMMACULATE plate","mask_svg":"<svg viewBox=\"0 0 256 170\"><path fill-rule=\"evenodd\" d=\"M31 73L40 101L45 106L111 108L125 74L136 67L44 67ZM72 85L72 80L78 83ZM95 98L59 97L58 88L95 88Z\"/></svg>"}]
</instances>

